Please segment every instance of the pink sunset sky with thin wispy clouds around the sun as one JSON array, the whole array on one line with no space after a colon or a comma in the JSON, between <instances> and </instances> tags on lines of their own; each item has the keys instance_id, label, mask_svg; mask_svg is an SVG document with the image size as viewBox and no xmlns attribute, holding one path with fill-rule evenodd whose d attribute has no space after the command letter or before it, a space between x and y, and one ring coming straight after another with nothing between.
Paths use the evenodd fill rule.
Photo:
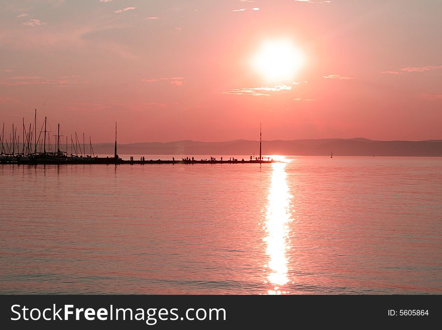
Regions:
<instances>
[{"instance_id":1,"label":"pink sunset sky with thin wispy clouds around the sun","mask_svg":"<svg viewBox=\"0 0 442 330\"><path fill-rule=\"evenodd\" d=\"M23 0L0 12L0 125L112 142L442 139L442 2ZM265 41L304 57L271 81ZM20 126L21 127L21 126ZM9 134L9 131L6 135ZM9 135L8 135L9 136Z\"/></svg>"}]
</instances>

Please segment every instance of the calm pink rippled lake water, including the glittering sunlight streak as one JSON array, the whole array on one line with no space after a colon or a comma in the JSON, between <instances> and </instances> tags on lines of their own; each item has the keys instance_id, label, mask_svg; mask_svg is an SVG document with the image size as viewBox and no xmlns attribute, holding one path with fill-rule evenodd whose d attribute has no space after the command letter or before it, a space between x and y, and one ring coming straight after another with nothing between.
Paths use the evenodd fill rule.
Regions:
<instances>
[{"instance_id":1,"label":"calm pink rippled lake water, including the glittering sunlight streak","mask_svg":"<svg viewBox=\"0 0 442 330\"><path fill-rule=\"evenodd\" d=\"M0 293L442 293L441 158L0 165L0 184Z\"/></svg>"}]
</instances>

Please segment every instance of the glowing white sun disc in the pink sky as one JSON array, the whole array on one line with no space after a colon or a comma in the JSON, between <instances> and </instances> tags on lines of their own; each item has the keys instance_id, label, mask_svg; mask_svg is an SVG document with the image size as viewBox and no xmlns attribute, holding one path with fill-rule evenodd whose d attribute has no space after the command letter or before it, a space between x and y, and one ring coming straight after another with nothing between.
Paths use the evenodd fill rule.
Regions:
<instances>
[{"instance_id":1,"label":"glowing white sun disc in the pink sky","mask_svg":"<svg viewBox=\"0 0 442 330\"><path fill-rule=\"evenodd\" d=\"M301 51L290 41L277 40L262 44L252 66L267 80L281 81L292 79L303 62Z\"/></svg>"}]
</instances>

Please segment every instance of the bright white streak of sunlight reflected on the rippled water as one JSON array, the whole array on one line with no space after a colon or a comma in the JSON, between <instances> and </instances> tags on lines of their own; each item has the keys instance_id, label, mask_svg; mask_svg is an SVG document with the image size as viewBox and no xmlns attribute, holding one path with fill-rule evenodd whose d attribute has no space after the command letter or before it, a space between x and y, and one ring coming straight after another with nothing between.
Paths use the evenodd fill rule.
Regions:
<instances>
[{"instance_id":1,"label":"bright white streak of sunlight reflected on the rippled water","mask_svg":"<svg viewBox=\"0 0 442 330\"><path fill-rule=\"evenodd\" d=\"M284 161L283 158L278 160ZM290 199L292 196L287 185L285 166L285 162L272 164L272 181L265 222L267 236L264 238L269 256L267 283L272 285L268 294L289 293L284 290L283 286L289 281L286 252L289 249L288 224L291 221Z\"/></svg>"}]
</instances>

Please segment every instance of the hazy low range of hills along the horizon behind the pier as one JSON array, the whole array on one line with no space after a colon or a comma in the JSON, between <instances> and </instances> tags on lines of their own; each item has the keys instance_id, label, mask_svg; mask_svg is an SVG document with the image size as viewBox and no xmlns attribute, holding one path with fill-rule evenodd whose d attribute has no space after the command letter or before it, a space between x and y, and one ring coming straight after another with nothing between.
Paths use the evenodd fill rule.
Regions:
<instances>
[{"instance_id":1,"label":"hazy low range of hills along the horizon behind the pier","mask_svg":"<svg viewBox=\"0 0 442 330\"><path fill-rule=\"evenodd\" d=\"M95 154L114 154L113 143L94 144ZM263 155L326 156L427 156L442 157L442 140L376 141L355 139L273 140L262 142ZM226 142L141 142L119 144L121 155L255 155L259 142L234 140Z\"/></svg>"}]
</instances>

